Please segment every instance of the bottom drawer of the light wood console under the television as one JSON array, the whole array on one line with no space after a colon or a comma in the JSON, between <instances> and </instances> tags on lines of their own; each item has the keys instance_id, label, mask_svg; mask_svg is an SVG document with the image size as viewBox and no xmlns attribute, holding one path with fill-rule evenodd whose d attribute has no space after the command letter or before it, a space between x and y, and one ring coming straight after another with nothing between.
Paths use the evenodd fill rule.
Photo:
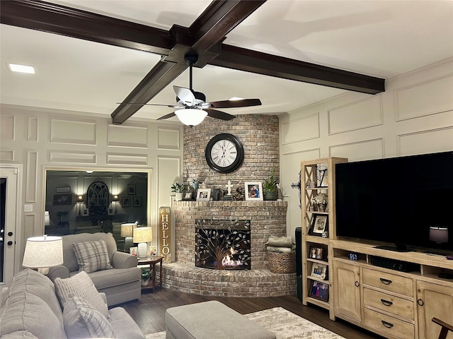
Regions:
<instances>
[{"instance_id":1,"label":"bottom drawer of the light wood console under the television","mask_svg":"<svg viewBox=\"0 0 453 339\"><path fill-rule=\"evenodd\" d=\"M372 311L366 307L364 311L364 323L367 326L376 328L379 331L393 335L394 338L414 338L415 327L412 323L406 323L391 316Z\"/></svg>"}]
</instances>

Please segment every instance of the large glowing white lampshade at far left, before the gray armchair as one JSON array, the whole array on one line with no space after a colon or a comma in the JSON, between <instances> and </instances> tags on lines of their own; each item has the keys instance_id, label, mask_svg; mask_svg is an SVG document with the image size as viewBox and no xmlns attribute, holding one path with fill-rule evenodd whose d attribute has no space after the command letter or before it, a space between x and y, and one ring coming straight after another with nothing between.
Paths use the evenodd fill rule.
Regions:
<instances>
[{"instance_id":1,"label":"large glowing white lampshade at far left, before the gray armchair","mask_svg":"<svg viewBox=\"0 0 453 339\"><path fill-rule=\"evenodd\" d=\"M63 264L62 237L31 237L25 244L22 266L47 268Z\"/></svg>"}]
</instances>

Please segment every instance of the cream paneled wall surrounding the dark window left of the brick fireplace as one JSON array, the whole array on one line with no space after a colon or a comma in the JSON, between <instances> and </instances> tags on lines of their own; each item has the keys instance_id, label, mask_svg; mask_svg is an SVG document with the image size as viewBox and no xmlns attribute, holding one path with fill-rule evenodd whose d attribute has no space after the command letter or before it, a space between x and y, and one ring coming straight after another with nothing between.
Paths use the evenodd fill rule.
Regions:
<instances>
[{"instance_id":1,"label":"cream paneled wall surrounding the dark window left of the brick fireplace","mask_svg":"<svg viewBox=\"0 0 453 339\"><path fill-rule=\"evenodd\" d=\"M21 239L44 230L45 169L149 172L148 224L157 232L159 206L170 206L171 183L182 177L183 126L1 105L0 162L23 164ZM159 178L159 180L158 180ZM23 205L33 212L23 212ZM157 244L154 237L153 246Z\"/></svg>"}]
</instances>

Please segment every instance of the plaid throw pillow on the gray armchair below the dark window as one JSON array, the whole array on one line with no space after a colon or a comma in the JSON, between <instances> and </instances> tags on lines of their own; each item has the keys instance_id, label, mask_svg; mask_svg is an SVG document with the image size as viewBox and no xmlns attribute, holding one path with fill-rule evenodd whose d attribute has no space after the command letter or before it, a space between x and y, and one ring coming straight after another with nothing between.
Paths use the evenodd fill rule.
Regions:
<instances>
[{"instance_id":1,"label":"plaid throw pillow on the gray armchair below the dark window","mask_svg":"<svg viewBox=\"0 0 453 339\"><path fill-rule=\"evenodd\" d=\"M96 272L96 270L108 270L113 268L108 258L107 243L105 239L93 242L78 242L72 244L74 254L79 263L79 272Z\"/></svg>"}]
</instances>

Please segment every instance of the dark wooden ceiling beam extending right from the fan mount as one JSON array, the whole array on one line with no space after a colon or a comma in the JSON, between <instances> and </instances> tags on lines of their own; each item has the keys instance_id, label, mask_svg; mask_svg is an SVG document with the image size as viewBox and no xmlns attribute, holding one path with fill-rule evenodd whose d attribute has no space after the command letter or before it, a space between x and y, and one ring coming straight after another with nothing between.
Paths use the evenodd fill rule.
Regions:
<instances>
[{"instance_id":1,"label":"dark wooden ceiling beam extending right from the fan mount","mask_svg":"<svg viewBox=\"0 0 453 339\"><path fill-rule=\"evenodd\" d=\"M360 93L377 94L384 92L385 80L382 78L310 64L309 62L227 44L219 44L218 47L217 50L212 51L216 52L218 56L208 61L207 64Z\"/></svg>"}]
</instances>

